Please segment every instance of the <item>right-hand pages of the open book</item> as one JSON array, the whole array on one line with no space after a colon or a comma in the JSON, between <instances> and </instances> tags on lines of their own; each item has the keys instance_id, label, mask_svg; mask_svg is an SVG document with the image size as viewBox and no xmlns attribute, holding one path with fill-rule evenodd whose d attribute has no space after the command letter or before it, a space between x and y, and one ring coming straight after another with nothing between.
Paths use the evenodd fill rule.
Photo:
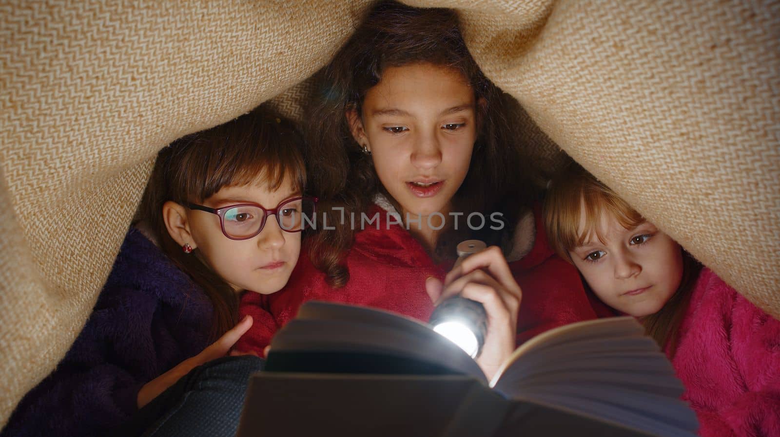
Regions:
<instances>
[{"instance_id":1,"label":"right-hand pages of the open book","mask_svg":"<svg viewBox=\"0 0 780 437\"><path fill-rule=\"evenodd\" d=\"M491 386L514 400L547 404L652 435L695 435L679 400L683 384L658 345L629 317L573 323L519 347Z\"/></svg>"}]
</instances>

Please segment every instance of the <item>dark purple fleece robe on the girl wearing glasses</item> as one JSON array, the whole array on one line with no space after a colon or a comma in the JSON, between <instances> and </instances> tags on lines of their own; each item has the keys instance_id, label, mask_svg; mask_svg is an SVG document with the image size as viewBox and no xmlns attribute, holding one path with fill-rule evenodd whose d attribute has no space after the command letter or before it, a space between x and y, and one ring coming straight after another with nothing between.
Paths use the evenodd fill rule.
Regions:
<instances>
[{"instance_id":1,"label":"dark purple fleece robe on the girl wearing glasses","mask_svg":"<svg viewBox=\"0 0 780 437\"><path fill-rule=\"evenodd\" d=\"M131 228L86 326L0 436L106 435L141 386L207 346L212 318L200 287Z\"/></svg>"}]
</instances>

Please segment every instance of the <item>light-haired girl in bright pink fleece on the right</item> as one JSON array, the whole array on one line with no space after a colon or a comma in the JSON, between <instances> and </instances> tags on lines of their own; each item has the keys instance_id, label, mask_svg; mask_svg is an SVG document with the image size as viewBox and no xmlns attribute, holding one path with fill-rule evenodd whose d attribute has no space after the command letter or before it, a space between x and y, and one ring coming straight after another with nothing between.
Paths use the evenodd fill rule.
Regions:
<instances>
[{"instance_id":1,"label":"light-haired girl in bright pink fleece on the right","mask_svg":"<svg viewBox=\"0 0 780 437\"><path fill-rule=\"evenodd\" d=\"M552 182L556 252L664 347L700 435L780 435L780 322L751 304L579 165Z\"/></svg>"}]
</instances>

